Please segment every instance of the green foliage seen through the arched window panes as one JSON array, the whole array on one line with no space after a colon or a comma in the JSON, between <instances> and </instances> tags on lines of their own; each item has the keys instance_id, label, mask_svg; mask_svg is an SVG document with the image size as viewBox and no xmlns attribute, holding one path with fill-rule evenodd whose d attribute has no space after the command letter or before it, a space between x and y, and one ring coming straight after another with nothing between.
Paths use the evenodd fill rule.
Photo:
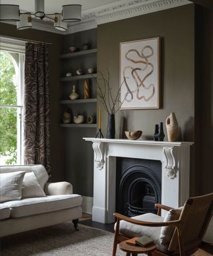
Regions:
<instances>
[{"instance_id":1,"label":"green foliage seen through the arched window panes","mask_svg":"<svg viewBox=\"0 0 213 256\"><path fill-rule=\"evenodd\" d=\"M0 51L0 105L17 105L13 83L15 67L10 57ZM6 164L17 163L17 109L0 107L0 155L9 157Z\"/></svg>"}]
</instances>

